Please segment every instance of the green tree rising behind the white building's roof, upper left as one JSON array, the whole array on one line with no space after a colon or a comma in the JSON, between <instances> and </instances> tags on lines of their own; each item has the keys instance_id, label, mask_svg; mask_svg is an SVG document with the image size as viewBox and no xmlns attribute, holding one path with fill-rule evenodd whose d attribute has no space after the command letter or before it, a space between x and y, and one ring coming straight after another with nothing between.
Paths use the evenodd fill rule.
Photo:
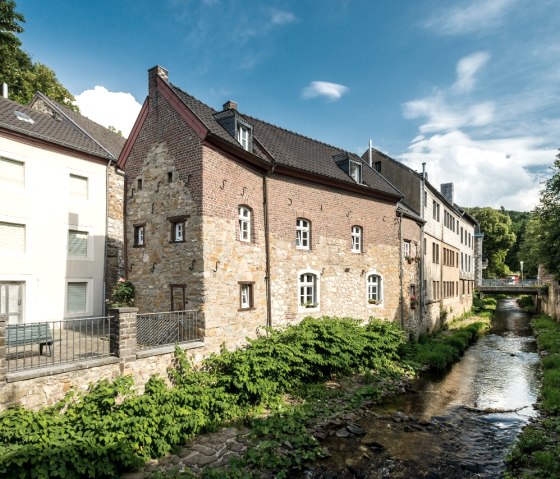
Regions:
<instances>
[{"instance_id":1,"label":"green tree rising behind the white building's roof, upper left","mask_svg":"<svg viewBox=\"0 0 560 479\"><path fill-rule=\"evenodd\" d=\"M0 81L8 84L10 98L28 104L37 91L50 99L78 111L74 96L58 81L52 69L34 63L21 49L18 34L25 19L15 11L14 0L0 0Z\"/></svg>"}]
</instances>

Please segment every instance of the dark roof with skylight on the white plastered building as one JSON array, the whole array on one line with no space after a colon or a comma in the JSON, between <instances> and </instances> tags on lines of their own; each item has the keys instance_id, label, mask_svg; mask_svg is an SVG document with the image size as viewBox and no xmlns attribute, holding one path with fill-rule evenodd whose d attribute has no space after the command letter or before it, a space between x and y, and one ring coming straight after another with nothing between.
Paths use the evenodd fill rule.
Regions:
<instances>
[{"instance_id":1,"label":"dark roof with skylight on the white plastered building","mask_svg":"<svg viewBox=\"0 0 560 479\"><path fill-rule=\"evenodd\" d=\"M44 98L50 104L53 103L48 98ZM125 142L124 138L67 108L57 105L56 109L59 115L53 116L0 97L0 128L107 160L118 158ZM15 111L24 113L33 120L33 123L18 119ZM80 122L84 126L81 126Z\"/></svg>"}]
</instances>

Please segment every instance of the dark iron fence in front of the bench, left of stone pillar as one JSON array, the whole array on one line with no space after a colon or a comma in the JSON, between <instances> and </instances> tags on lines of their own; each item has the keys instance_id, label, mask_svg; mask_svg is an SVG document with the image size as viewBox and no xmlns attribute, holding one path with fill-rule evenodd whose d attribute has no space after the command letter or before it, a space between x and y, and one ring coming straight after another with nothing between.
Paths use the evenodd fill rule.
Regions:
<instances>
[{"instance_id":1,"label":"dark iron fence in front of the bench, left of stone pillar","mask_svg":"<svg viewBox=\"0 0 560 479\"><path fill-rule=\"evenodd\" d=\"M110 333L110 316L8 324L8 371L110 356Z\"/></svg>"}]
</instances>

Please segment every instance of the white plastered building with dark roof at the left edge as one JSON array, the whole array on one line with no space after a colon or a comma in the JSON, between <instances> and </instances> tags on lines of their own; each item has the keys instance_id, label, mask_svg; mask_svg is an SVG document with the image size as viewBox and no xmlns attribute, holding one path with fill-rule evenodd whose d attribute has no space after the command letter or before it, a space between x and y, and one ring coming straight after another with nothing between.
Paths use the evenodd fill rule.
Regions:
<instances>
[{"instance_id":1,"label":"white plastered building with dark roof at the left edge","mask_svg":"<svg viewBox=\"0 0 560 479\"><path fill-rule=\"evenodd\" d=\"M104 313L123 274L124 138L37 93L0 98L0 314Z\"/></svg>"}]
</instances>

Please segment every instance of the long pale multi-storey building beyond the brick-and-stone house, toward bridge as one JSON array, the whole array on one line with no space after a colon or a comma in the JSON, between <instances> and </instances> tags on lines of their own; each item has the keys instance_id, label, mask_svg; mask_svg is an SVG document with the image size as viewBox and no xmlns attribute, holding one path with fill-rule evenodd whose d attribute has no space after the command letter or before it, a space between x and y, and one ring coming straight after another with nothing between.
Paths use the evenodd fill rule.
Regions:
<instances>
[{"instance_id":1,"label":"long pale multi-storey building beyond the brick-and-stone house, toward bridge","mask_svg":"<svg viewBox=\"0 0 560 479\"><path fill-rule=\"evenodd\" d=\"M374 148L362 158L395 185L425 221L421 231L422 323L433 329L470 311L481 271L483 234L476 220L455 203L453 183L442 184L438 191L426 171L418 173Z\"/></svg>"}]
</instances>

